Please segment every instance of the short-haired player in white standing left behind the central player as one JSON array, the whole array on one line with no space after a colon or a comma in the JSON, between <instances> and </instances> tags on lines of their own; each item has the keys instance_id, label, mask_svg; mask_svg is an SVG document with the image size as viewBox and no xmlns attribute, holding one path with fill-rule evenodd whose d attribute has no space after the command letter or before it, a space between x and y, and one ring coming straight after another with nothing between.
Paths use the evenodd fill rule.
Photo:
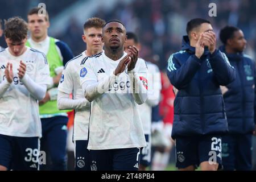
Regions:
<instances>
[{"instance_id":1,"label":"short-haired player in white standing left behind the central player","mask_svg":"<svg viewBox=\"0 0 256 182\"><path fill-rule=\"evenodd\" d=\"M58 87L57 104L59 109L75 109L73 140L76 170L90 170L89 150L87 150L90 102L84 97L80 86L80 63L87 56L102 52L102 27L105 23L100 18L90 18L84 23L82 40L86 43L86 51L68 61ZM70 93L72 93L73 99L69 98Z\"/></svg>"}]
</instances>

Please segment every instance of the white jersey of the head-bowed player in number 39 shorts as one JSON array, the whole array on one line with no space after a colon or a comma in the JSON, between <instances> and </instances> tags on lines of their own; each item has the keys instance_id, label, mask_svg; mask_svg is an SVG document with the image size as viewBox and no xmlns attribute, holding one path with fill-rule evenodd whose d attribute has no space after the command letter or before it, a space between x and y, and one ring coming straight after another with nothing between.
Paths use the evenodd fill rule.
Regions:
<instances>
[{"instance_id":1,"label":"white jersey of the head-bowed player in number 39 shorts","mask_svg":"<svg viewBox=\"0 0 256 182\"><path fill-rule=\"evenodd\" d=\"M20 82L18 71L20 60L27 65L26 74L38 84L49 84L49 66L46 56L27 47L26 52L15 57L9 48L0 52L0 82L5 80L7 63L13 64L14 78L9 89L0 98L0 134L14 137L42 137L38 101Z\"/></svg>"}]
</instances>

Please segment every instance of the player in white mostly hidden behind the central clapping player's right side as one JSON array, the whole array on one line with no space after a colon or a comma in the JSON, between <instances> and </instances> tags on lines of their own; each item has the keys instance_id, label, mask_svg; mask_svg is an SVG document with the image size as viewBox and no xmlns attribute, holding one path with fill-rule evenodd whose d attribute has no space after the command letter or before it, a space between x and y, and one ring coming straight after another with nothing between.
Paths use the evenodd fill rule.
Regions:
<instances>
[{"instance_id":1,"label":"player in white mostly hidden behind the central clapping player's right side","mask_svg":"<svg viewBox=\"0 0 256 182\"><path fill-rule=\"evenodd\" d=\"M138 51L141 49L138 36L133 32L127 32L127 40L125 43L125 52L128 52L129 47L137 47ZM141 58L138 58L141 59ZM144 61L144 60L143 60ZM146 167L151 163L151 113L152 106L156 106L160 101L161 80L160 71L155 64L146 61L148 68L148 98L142 105L138 105L139 115L142 120L143 131L147 146L141 151L141 160L139 163L139 171L145 171Z\"/></svg>"}]
</instances>

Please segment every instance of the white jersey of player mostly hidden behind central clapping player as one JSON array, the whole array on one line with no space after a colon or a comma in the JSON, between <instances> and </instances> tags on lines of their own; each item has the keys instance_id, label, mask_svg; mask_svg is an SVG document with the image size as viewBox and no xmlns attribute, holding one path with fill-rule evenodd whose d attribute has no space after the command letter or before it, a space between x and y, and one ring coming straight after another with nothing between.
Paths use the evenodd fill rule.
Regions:
<instances>
[{"instance_id":1,"label":"white jersey of player mostly hidden behind central clapping player","mask_svg":"<svg viewBox=\"0 0 256 182\"><path fill-rule=\"evenodd\" d=\"M146 62L146 65L148 69L148 98L144 104L138 105L138 109L140 111L139 114L141 115L144 134L151 134L152 105L150 105L150 102L155 100L153 101L154 103L159 103L162 86L158 67L150 62Z\"/></svg>"}]
</instances>

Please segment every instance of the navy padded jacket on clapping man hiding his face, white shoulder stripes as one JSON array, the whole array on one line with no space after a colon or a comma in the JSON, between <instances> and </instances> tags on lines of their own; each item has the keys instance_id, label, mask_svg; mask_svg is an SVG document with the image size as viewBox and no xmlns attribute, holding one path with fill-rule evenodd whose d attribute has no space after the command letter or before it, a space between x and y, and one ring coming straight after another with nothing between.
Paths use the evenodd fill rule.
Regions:
<instances>
[{"instance_id":1,"label":"navy padded jacket on clapping man hiding his face, white shoulder stripes","mask_svg":"<svg viewBox=\"0 0 256 182\"><path fill-rule=\"evenodd\" d=\"M179 90L174 101L172 138L176 136L222 134L228 131L220 85L236 77L224 53L208 49L198 59L195 47L184 36L182 50L168 59L167 75Z\"/></svg>"}]
</instances>

